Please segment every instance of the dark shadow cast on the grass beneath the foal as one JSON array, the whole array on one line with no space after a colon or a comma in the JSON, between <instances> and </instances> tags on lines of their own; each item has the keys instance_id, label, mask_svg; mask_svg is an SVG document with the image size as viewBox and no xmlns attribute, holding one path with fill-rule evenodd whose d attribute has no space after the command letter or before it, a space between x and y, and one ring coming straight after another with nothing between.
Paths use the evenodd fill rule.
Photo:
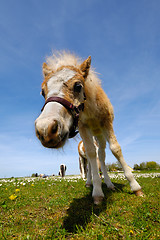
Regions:
<instances>
[{"instance_id":1,"label":"dark shadow cast on the grass beneath the foal","mask_svg":"<svg viewBox=\"0 0 160 240\"><path fill-rule=\"evenodd\" d=\"M117 193L122 191L123 184L114 184ZM90 192L83 198L74 198L67 210L67 216L63 220L63 228L70 233L76 233L78 229L85 229L87 224L91 222L93 214L97 216L106 210L108 204L112 204L113 191L109 190L105 184L102 184L105 195L103 202L96 206L92 199L92 188Z\"/></svg>"}]
</instances>

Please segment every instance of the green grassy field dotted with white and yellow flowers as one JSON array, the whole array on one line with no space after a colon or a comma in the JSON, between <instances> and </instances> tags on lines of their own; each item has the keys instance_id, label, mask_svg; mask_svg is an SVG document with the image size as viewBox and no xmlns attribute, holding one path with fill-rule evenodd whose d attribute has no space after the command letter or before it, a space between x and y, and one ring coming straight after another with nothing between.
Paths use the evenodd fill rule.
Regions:
<instances>
[{"instance_id":1,"label":"green grassy field dotted with white and yellow flowers","mask_svg":"<svg viewBox=\"0 0 160 240\"><path fill-rule=\"evenodd\" d=\"M143 198L110 176L101 206L77 177L0 179L0 239L160 239L158 173L136 174Z\"/></svg>"}]
</instances>

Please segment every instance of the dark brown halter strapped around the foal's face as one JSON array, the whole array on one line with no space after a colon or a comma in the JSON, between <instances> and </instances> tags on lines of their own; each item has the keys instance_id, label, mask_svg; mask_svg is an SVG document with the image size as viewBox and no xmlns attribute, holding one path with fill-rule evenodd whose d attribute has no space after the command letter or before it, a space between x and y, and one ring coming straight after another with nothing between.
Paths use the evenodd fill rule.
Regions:
<instances>
[{"instance_id":1,"label":"dark brown halter strapped around the foal's face","mask_svg":"<svg viewBox=\"0 0 160 240\"><path fill-rule=\"evenodd\" d=\"M63 105L73 116L73 125L70 129L69 138L73 138L77 135L78 130L78 120L79 120L79 114L81 111L84 110L84 103L81 103L79 106L74 106L72 103L68 102L66 99L61 97L50 97L45 101L44 106L41 109L41 112L43 111L44 107L49 102L57 102Z\"/></svg>"}]
</instances>

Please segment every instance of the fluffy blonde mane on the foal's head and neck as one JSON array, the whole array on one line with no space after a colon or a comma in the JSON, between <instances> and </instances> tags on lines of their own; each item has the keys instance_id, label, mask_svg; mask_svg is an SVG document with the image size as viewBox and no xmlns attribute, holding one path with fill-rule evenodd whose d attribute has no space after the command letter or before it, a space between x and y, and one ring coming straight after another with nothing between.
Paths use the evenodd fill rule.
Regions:
<instances>
[{"instance_id":1,"label":"fluffy blonde mane on the foal's head and neck","mask_svg":"<svg viewBox=\"0 0 160 240\"><path fill-rule=\"evenodd\" d=\"M66 52L66 51L57 51L52 56L46 57L46 62L48 66L56 71L61 66L74 66L79 68L83 59L77 57L76 55ZM95 70L91 67L87 80L90 80L95 85L101 85L100 79L97 77Z\"/></svg>"}]
</instances>

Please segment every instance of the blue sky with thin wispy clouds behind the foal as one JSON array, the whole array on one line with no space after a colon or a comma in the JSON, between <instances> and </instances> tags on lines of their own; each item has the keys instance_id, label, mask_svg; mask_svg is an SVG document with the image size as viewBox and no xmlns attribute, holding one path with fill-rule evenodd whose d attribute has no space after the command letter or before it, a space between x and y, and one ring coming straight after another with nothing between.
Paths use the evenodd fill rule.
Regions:
<instances>
[{"instance_id":1,"label":"blue sky with thin wispy clouds behind the foal","mask_svg":"<svg viewBox=\"0 0 160 240\"><path fill-rule=\"evenodd\" d=\"M61 49L92 56L127 163L160 163L159 13L159 0L1 0L0 177L57 174L61 163L79 173L80 137L50 150L34 132L42 63Z\"/></svg>"}]
</instances>

